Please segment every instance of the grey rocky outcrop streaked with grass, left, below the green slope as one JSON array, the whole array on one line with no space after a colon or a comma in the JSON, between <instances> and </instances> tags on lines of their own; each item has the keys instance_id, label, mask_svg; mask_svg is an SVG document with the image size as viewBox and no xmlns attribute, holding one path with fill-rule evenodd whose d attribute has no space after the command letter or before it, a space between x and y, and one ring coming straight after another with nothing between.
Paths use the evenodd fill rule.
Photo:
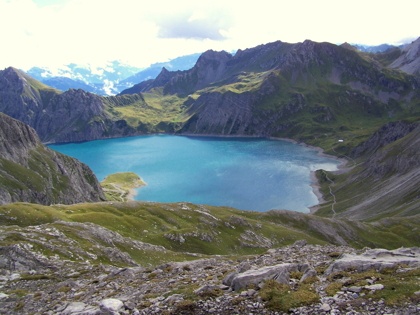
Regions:
<instances>
[{"instance_id":1,"label":"grey rocky outcrop streaked with grass, left, below the green slope","mask_svg":"<svg viewBox=\"0 0 420 315\"><path fill-rule=\"evenodd\" d=\"M66 236L64 232L71 232L76 239L83 239L89 246L96 247L97 252L92 252L80 246L79 241ZM34 236L37 238L34 239ZM26 228L0 231L0 237L18 238L21 241L16 244L0 246L0 268L8 270L57 270L63 268L66 259L73 260L107 260L115 263L123 263L133 268L115 268L110 270L110 276L129 276L144 270L137 262L121 248L135 248L140 251L165 252L165 248L142 241L130 239L110 231L108 228L92 223L77 223L56 221L53 224L43 224ZM47 241L46 237L53 241ZM105 243L105 245L104 245ZM43 247L50 252L57 252L55 256L46 256L36 250ZM63 256L63 257L61 257ZM185 264L184 264L185 265Z\"/></svg>"}]
</instances>

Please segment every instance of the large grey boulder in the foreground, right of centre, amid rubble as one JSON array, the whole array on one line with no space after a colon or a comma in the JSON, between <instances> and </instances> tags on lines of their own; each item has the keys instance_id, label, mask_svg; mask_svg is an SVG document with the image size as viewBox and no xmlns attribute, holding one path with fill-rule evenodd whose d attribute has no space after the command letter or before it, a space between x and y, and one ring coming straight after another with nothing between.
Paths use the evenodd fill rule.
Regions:
<instances>
[{"instance_id":1,"label":"large grey boulder in the foreground, right of centre, amid rubble","mask_svg":"<svg viewBox=\"0 0 420 315\"><path fill-rule=\"evenodd\" d=\"M247 270L244 273L238 273L232 278L231 288L236 291L242 288L246 288L251 283L255 286L258 286L259 283L274 278L276 278L276 281L280 283L289 284L289 271L300 271L301 269L307 270L308 265L286 263L273 266L265 266L256 270ZM281 276L279 276L280 274Z\"/></svg>"}]
</instances>

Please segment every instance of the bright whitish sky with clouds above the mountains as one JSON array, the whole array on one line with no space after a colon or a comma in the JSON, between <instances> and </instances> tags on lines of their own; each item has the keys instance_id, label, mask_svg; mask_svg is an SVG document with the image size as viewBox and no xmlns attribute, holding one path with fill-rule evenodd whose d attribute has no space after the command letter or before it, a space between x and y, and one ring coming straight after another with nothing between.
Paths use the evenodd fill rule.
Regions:
<instances>
[{"instance_id":1,"label":"bright whitish sky with clouds above the mountains","mask_svg":"<svg viewBox=\"0 0 420 315\"><path fill-rule=\"evenodd\" d=\"M0 0L0 68L147 67L281 40L379 45L420 36L420 1Z\"/></svg>"}]
</instances>

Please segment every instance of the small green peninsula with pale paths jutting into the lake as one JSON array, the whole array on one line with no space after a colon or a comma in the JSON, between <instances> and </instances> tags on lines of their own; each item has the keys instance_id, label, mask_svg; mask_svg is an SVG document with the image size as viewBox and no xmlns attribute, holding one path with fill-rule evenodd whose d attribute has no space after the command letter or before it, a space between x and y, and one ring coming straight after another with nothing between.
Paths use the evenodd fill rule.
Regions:
<instances>
[{"instance_id":1,"label":"small green peninsula with pale paths jutting into the lake","mask_svg":"<svg viewBox=\"0 0 420 315\"><path fill-rule=\"evenodd\" d=\"M142 178L133 172L110 174L101 182L108 201L134 200L133 198L137 194L134 188L146 185Z\"/></svg>"}]
</instances>

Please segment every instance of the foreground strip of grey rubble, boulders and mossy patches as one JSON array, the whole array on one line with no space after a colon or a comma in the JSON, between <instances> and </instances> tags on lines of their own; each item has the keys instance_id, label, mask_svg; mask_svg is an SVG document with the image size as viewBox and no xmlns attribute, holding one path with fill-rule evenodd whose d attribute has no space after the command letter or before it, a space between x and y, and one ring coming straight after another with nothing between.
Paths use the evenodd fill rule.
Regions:
<instances>
[{"instance_id":1,"label":"foreground strip of grey rubble, boulders and mossy patches","mask_svg":"<svg viewBox=\"0 0 420 315\"><path fill-rule=\"evenodd\" d=\"M4 248L0 258L5 260ZM26 249L27 251L28 249ZM33 255L36 255L35 253ZM9 257L10 258L10 257ZM9 259L7 258L7 259ZM158 266L1 269L1 314L418 314L420 250L308 245ZM76 258L77 259L77 258ZM417 292L418 291L418 292Z\"/></svg>"}]
</instances>

